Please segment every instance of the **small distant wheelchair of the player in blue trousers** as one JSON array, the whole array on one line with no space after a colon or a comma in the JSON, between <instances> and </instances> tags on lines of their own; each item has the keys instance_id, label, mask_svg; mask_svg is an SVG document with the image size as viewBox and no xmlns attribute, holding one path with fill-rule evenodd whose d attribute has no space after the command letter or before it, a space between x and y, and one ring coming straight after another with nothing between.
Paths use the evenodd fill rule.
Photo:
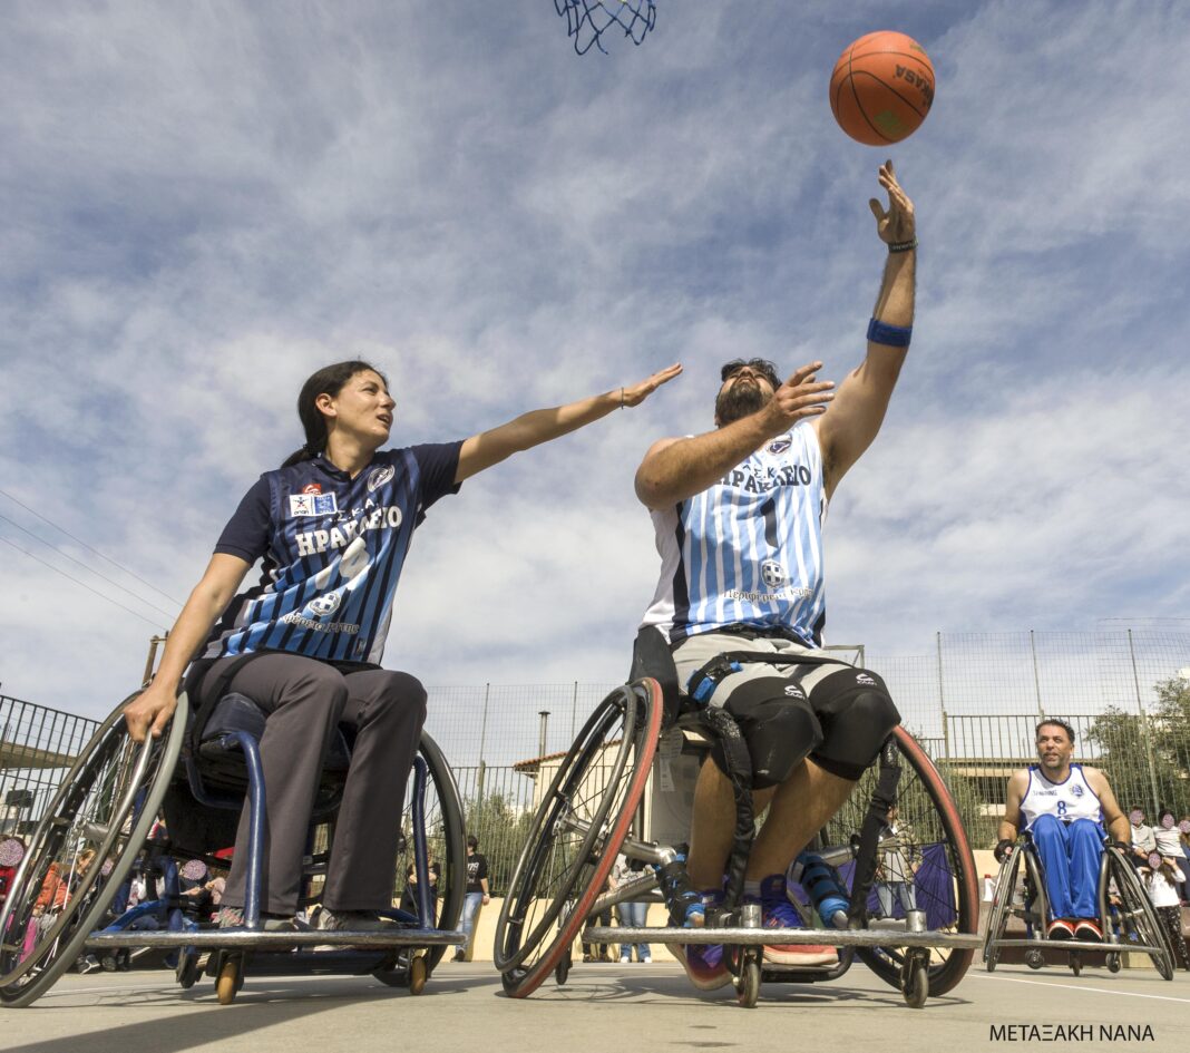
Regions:
<instances>
[{"instance_id":1,"label":"small distant wheelchair of the player in blue trousers","mask_svg":"<svg viewBox=\"0 0 1190 1053\"><path fill-rule=\"evenodd\" d=\"M1022 871L1023 860L1023 873ZM1103 942L1090 940L1047 940L1045 933L1050 903L1045 890L1041 859L1029 835L1022 834L1000 865L996 890L983 942L983 961L988 972L1000 964L1006 948L1025 951L1025 964L1041 969L1047 952L1066 954L1071 972L1078 976L1084 954L1102 954L1110 972L1119 972L1123 953L1147 954L1163 979L1173 979L1173 949L1169 946L1153 904L1148 901L1136 869L1115 845L1107 844L1100 859L1100 928ZM1008 936L1013 920L1023 923L1023 936Z\"/></svg>"}]
</instances>

